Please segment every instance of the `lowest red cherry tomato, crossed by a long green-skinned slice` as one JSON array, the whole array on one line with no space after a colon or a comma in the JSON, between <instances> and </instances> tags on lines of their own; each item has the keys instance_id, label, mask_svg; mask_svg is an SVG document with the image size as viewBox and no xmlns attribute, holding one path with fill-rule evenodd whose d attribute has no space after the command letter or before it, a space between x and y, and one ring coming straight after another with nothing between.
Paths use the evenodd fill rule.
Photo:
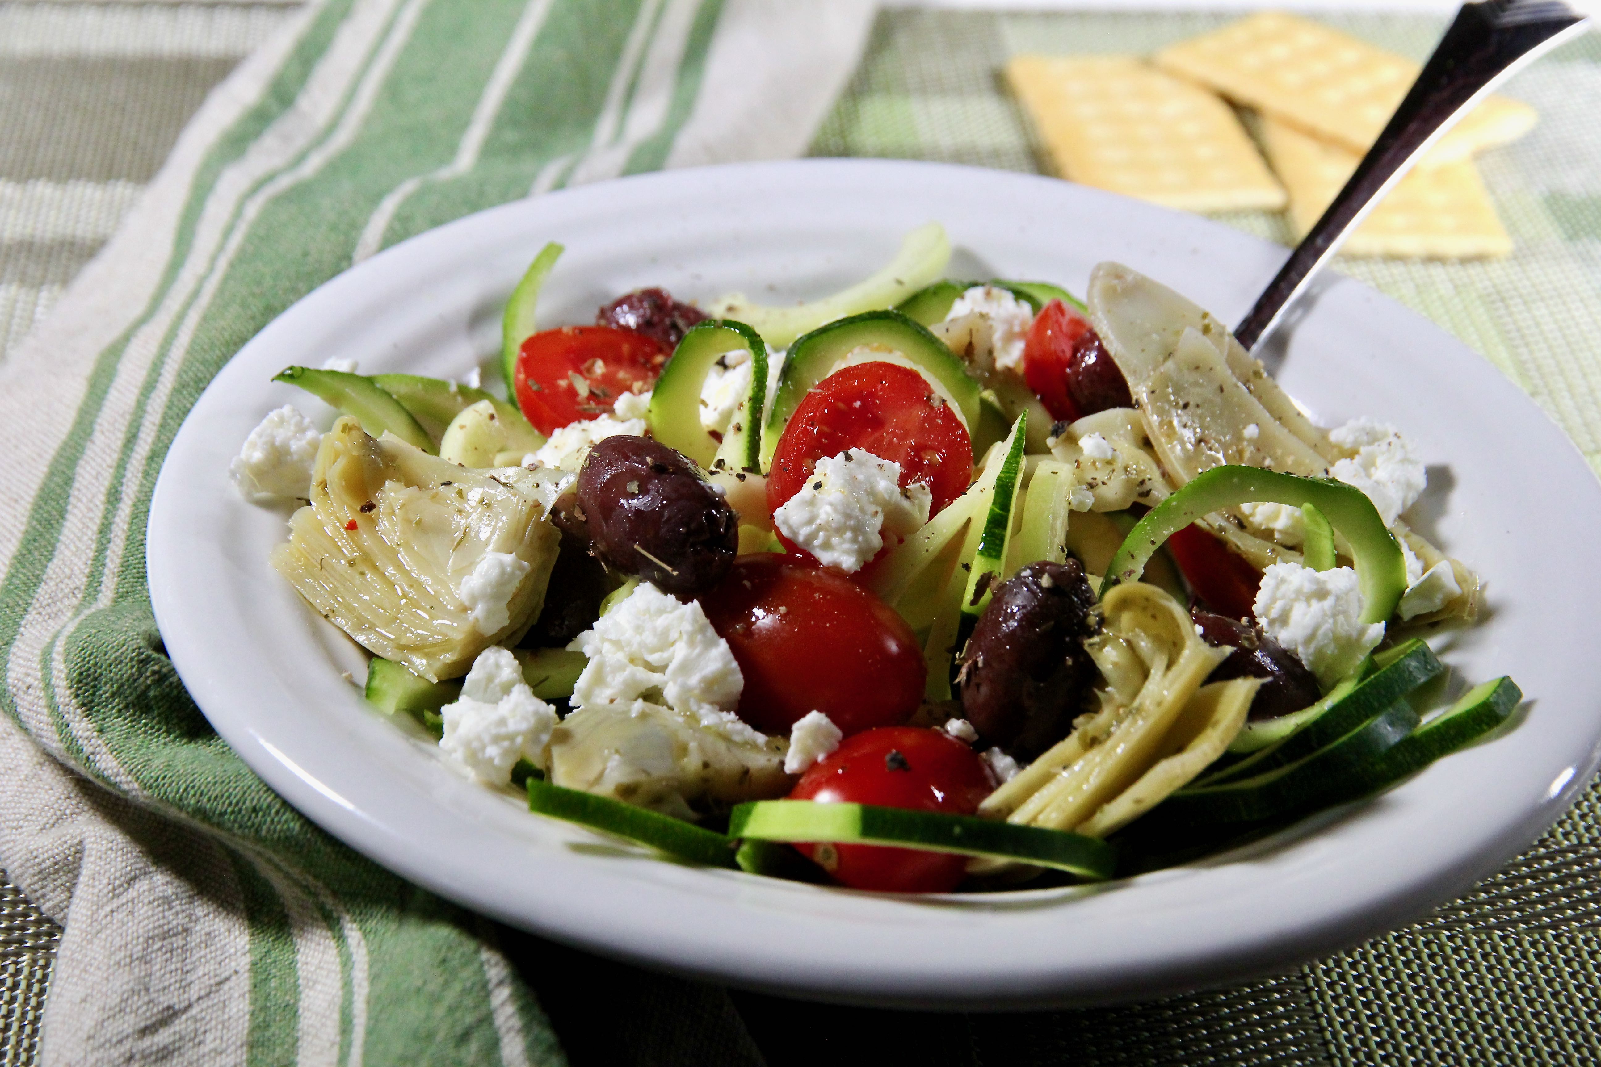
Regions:
<instances>
[{"instance_id":1,"label":"lowest red cherry tomato, crossed by a long green-skinned slice","mask_svg":"<svg viewBox=\"0 0 1601 1067\"><path fill-rule=\"evenodd\" d=\"M849 737L818 760L791 800L879 805L970 816L989 795L983 760L940 729L887 726ZM836 881L885 893L946 893L967 857L884 845L796 845Z\"/></svg>"}]
</instances>

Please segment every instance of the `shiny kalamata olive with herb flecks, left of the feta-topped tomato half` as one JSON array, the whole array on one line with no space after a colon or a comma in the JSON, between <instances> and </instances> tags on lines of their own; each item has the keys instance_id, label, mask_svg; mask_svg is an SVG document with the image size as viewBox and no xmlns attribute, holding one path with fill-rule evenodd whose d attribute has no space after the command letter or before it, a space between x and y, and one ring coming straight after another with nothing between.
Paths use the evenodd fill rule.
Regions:
<instances>
[{"instance_id":1,"label":"shiny kalamata olive with herb flecks, left of the feta-topped tomato half","mask_svg":"<svg viewBox=\"0 0 1601 1067\"><path fill-rule=\"evenodd\" d=\"M722 581L740 517L682 453L648 437L596 442L578 472L578 515L596 552L658 589L693 597Z\"/></svg>"}]
</instances>

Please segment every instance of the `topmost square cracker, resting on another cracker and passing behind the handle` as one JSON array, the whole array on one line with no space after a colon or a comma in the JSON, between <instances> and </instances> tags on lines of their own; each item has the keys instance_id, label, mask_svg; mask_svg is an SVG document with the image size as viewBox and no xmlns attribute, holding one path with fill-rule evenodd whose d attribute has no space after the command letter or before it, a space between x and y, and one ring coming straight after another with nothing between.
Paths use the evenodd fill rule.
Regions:
<instances>
[{"instance_id":1,"label":"topmost square cracker, resting on another cracker and passing behind the handle","mask_svg":"<svg viewBox=\"0 0 1601 1067\"><path fill-rule=\"evenodd\" d=\"M1366 42L1282 11L1262 11L1170 45L1156 66L1223 96L1366 152L1390 122L1422 67ZM1515 141L1539 115L1491 96L1430 149L1425 166L1465 160Z\"/></svg>"}]
</instances>

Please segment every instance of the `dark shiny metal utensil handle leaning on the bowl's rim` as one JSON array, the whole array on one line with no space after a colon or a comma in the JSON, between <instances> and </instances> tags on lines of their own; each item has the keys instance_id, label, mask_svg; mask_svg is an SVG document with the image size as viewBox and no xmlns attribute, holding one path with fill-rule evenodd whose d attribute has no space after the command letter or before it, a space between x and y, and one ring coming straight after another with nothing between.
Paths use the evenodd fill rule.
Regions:
<instances>
[{"instance_id":1,"label":"dark shiny metal utensil handle leaning on the bowl's rim","mask_svg":"<svg viewBox=\"0 0 1601 1067\"><path fill-rule=\"evenodd\" d=\"M1526 62L1583 32L1587 16L1559 0L1465 3L1390 123L1356 165L1234 336L1255 349L1278 326L1311 277L1346 234L1401 181L1417 158L1489 91Z\"/></svg>"}]
</instances>

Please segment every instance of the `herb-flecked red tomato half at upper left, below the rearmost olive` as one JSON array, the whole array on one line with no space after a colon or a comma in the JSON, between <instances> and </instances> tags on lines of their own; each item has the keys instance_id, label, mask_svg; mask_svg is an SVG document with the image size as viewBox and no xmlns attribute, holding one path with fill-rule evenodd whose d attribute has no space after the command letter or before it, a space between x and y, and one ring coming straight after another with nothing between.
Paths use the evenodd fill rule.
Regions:
<instances>
[{"instance_id":1,"label":"herb-flecked red tomato half at upper left, below the rearmost olive","mask_svg":"<svg viewBox=\"0 0 1601 1067\"><path fill-rule=\"evenodd\" d=\"M549 435L570 422L610 414L624 392L650 389L668 355L660 341L632 330L541 330L522 342L517 355L517 406L533 429Z\"/></svg>"}]
</instances>

